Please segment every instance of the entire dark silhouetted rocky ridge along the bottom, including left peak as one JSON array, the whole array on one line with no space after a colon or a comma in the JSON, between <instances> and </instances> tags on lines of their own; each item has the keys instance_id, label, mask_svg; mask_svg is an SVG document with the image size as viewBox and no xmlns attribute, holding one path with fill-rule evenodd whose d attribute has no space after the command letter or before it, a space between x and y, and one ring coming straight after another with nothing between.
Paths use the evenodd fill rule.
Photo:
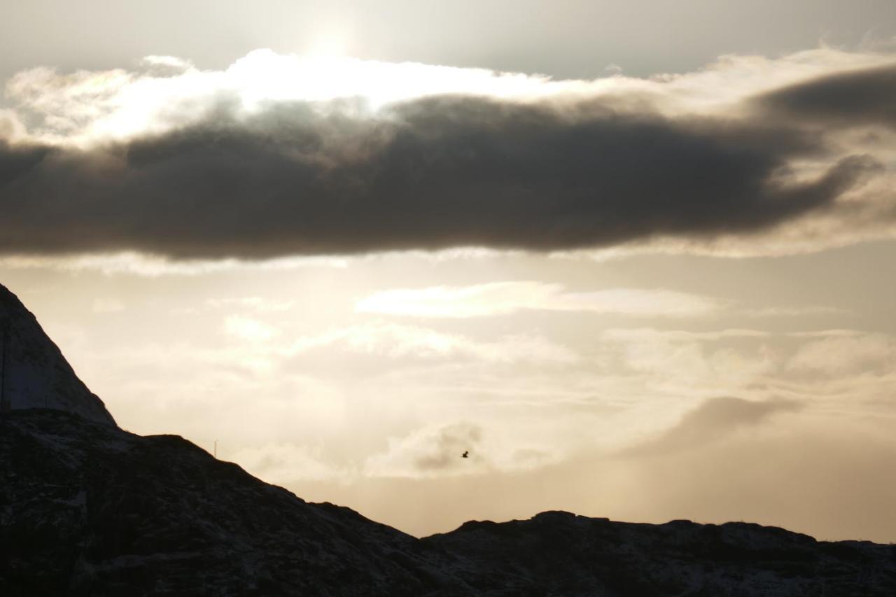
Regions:
<instances>
[{"instance_id":1,"label":"entire dark silhouetted rocky ridge along the bottom, including left peak","mask_svg":"<svg viewBox=\"0 0 896 597\"><path fill-rule=\"evenodd\" d=\"M896 595L892 545L563 512L416 539L309 504L181 437L117 428L33 316L0 300L29 371L13 371L0 419L4 597Z\"/></svg>"}]
</instances>

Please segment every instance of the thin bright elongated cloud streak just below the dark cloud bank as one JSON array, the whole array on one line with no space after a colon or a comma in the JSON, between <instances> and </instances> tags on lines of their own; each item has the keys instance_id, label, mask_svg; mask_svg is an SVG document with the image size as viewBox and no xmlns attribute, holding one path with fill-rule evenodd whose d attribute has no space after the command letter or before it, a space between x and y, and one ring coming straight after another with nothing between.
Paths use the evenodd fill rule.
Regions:
<instances>
[{"instance_id":1,"label":"thin bright elongated cloud streak just below the dark cloud bank","mask_svg":"<svg viewBox=\"0 0 896 597\"><path fill-rule=\"evenodd\" d=\"M611 313L628 316L700 316L719 302L674 290L608 289L566 292L560 284L504 281L472 286L381 290L361 299L355 310L416 317L481 317L521 309Z\"/></svg>"}]
</instances>

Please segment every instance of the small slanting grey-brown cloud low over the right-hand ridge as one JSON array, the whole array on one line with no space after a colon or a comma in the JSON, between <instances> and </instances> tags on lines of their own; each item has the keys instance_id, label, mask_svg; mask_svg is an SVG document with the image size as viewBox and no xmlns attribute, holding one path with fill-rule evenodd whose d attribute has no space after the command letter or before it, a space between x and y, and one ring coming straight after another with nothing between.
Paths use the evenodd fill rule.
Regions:
<instances>
[{"instance_id":1,"label":"small slanting grey-brown cloud low over the right-hand ridge","mask_svg":"<svg viewBox=\"0 0 896 597\"><path fill-rule=\"evenodd\" d=\"M702 447L729 437L742 428L761 425L780 412L798 411L799 402L772 399L749 401L743 398L711 398L654 439L629 447L620 454L670 454Z\"/></svg>"}]
</instances>

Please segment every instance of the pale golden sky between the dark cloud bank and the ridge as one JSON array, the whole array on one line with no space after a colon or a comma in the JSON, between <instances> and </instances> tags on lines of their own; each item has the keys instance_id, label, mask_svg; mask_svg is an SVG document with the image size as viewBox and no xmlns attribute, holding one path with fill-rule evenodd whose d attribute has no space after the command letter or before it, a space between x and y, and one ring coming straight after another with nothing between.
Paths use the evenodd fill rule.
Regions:
<instances>
[{"instance_id":1,"label":"pale golden sky between the dark cloud bank and the ridge","mask_svg":"<svg viewBox=\"0 0 896 597\"><path fill-rule=\"evenodd\" d=\"M389 255L186 275L3 272L123 427L217 439L222 458L264 479L410 532L563 507L883 540L885 509L874 523L833 512L894 489L871 476L838 489L822 471L883 474L896 449L893 280L863 269L888 247L761 268L685 255ZM489 281L509 273L540 282ZM422 290L401 290L409 283ZM632 292L650 309L614 307ZM754 419L698 417L675 449L620 455L720 396L791 402ZM455 462L458 446L475 458ZM782 468L757 468L770 457ZM669 470L680 484L663 480ZM788 475L802 480L781 489ZM513 495L504 508L498 491Z\"/></svg>"}]
</instances>

